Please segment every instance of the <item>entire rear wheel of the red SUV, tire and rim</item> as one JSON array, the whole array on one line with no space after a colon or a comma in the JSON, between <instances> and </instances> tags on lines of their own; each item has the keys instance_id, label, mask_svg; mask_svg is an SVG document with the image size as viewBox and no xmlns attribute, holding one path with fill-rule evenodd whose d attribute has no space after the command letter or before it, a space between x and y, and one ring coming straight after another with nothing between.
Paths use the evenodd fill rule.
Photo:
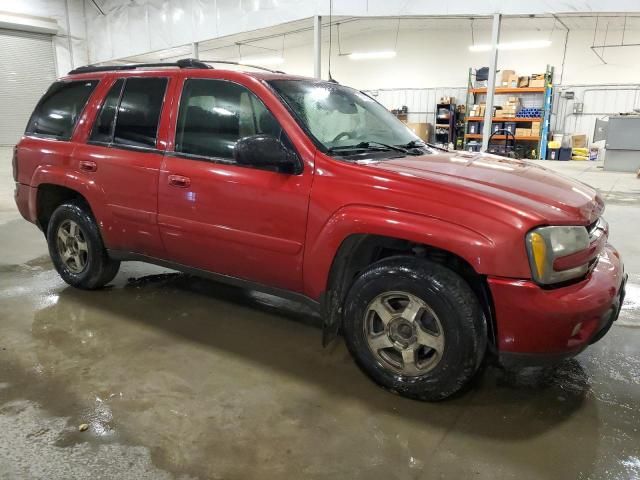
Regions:
<instances>
[{"instance_id":1,"label":"entire rear wheel of the red SUV, tire and rim","mask_svg":"<svg viewBox=\"0 0 640 480\"><path fill-rule=\"evenodd\" d=\"M120 262L109 258L100 230L81 202L60 205L47 227L49 254L56 270L69 285L100 288L118 273Z\"/></svg>"}]
</instances>

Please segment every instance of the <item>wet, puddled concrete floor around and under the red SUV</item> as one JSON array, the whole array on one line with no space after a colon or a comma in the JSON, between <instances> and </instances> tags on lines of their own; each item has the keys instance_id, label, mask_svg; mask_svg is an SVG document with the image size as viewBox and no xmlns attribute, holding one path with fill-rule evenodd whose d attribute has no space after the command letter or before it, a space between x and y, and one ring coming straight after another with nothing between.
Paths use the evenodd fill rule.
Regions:
<instances>
[{"instance_id":1,"label":"wet, puddled concrete floor around and under the red SUV","mask_svg":"<svg viewBox=\"0 0 640 480\"><path fill-rule=\"evenodd\" d=\"M640 478L640 180L545 165L607 196L629 302L577 359L439 404L376 387L299 305L139 263L67 287L0 171L0 479Z\"/></svg>"}]
</instances>

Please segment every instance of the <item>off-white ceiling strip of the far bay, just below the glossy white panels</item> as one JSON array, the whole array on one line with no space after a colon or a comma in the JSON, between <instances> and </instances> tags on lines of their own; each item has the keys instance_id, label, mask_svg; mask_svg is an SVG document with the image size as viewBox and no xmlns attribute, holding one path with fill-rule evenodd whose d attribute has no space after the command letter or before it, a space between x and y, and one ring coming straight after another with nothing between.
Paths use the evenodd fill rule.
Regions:
<instances>
[{"instance_id":1,"label":"off-white ceiling strip of the far bay, just below the glossy white panels","mask_svg":"<svg viewBox=\"0 0 640 480\"><path fill-rule=\"evenodd\" d=\"M356 18L336 17L332 19L334 42L337 41L338 30L341 40L372 31L408 31L408 30L450 30L457 29L461 32L483 32L491 29L489 17L378 17ZM629 40L640 39L639 15L562 15L562 16L522 16L504 17L502 21L503 31L540 30L552 31L553 29L590 30L601 37L605 31L614 32L626 30ZM309 19L284 23L275 27L262 30L243 32L237 35L205 40L199 42L200 58L218 60L237 60L242 57L264 55L272 52L282 52L283 49L311 45L312 27ZM328 41L329 21L323 17L323 40ZM636 40L637 41L637 40ZM157 62L171 61L192 55L191 45L184 45L150 52L144 55L123 58L121 62ZM114 62L111 62L114 63ZM115 62L117 63L117 62Z\"/></svg>"}]
</instances>

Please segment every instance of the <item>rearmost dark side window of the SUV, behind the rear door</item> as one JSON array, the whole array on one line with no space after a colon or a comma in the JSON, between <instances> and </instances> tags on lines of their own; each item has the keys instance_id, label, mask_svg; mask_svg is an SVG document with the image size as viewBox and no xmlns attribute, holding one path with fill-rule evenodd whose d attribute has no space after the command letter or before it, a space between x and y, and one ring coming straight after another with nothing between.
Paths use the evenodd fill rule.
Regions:
<instances>
[{"instance_id":1,"label":"rearmost dark side window of the SUV, behind the rear door","mask_svg":"<svg viewBox=\"0 0 640 480\"><path fill-rule=\"evenodd\" d=\"M44 94L27 124L27 134L69 140L98 80L55 82Z\"/></svg>"}]
</instances>

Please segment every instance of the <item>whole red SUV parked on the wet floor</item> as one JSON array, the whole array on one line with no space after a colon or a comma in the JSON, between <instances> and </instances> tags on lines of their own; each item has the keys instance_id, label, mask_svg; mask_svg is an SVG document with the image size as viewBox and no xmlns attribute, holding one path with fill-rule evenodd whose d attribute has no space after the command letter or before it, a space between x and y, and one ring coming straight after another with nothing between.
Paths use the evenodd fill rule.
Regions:
<instances>
[{"instance_id":1,"label":"whole red SUV parked on the wet floor","mask_svg":"<svg viewBox=\"0 0 640 480\"><path fill-rule=\"evenodd\" d=\"M95 289L142 260L307 302L324 342L438 400L486 353L576 355L626 275L592 188L448 152L335 82L194 60L83 67L15 149L15 198L55 268Z\"/></svg>"}]
</instances>

